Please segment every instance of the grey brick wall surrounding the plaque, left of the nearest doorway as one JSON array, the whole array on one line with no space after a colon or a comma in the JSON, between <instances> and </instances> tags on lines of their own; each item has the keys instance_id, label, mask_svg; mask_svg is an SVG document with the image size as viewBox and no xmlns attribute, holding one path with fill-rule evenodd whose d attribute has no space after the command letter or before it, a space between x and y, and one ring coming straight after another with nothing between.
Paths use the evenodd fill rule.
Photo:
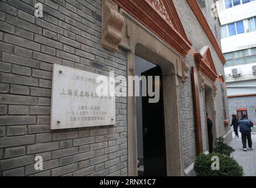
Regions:
<instances>
[{"instance_id":1,"label":"grey brick wall surrounding the plaque, left of the nearest doorway","mask_svg":"<svg viewBox=\"0 0 256 188\"><path fill-rule=\"evenodd\" d=\"M127 175L126 98L116 98L114 126L49 129L52 63L127 75L127 52L101 47L101 0L1 0L0 51L2 176Z\"/></svg>"}]
</instances>

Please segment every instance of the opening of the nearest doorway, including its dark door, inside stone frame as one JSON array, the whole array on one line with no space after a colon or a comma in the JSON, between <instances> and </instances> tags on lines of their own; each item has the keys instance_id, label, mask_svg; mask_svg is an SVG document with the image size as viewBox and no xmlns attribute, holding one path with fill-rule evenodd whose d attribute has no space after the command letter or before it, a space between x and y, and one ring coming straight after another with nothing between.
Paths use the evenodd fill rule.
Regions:
<instances>
[{"instance_id":1,"label":"opening of the nearest doorway, including its dark door, inside stone frame","mask_svg":"<svg viewBox=\"0 0 256 188\"><path fill-rule=\"evenodd\" d=\"M145 78L141 79L136 97L138 175L167 176L162 70L160 66L135 56L135 75ZM152 76L152 91L157 93L159 88L157 102L149 102L155 96L148 95L148 83L151 83L148 76ZM147 95L142 96L142 84L145 83Z\"/></svg>"}]
</instances>

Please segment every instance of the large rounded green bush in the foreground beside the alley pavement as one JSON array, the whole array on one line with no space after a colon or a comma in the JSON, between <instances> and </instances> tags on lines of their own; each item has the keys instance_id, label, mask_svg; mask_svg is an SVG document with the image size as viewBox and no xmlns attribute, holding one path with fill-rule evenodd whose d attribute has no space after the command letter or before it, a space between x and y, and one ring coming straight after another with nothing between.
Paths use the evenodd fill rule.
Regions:
<instances>
[{"instance_id":1,"label":"large rounded green bush in the foreground beside the alley pavement","mask_svg":"<svg viewBox=\"0 0 256 188\"><path fill-rule=\"evenodd\" d=\"M219 170L212 170L214 163L212 157L218 156L220 162ZM194 170L197 176L243 176L244 170L235 159L221 153L209 153L200 155L195 160Z\"/></svg>"}]
</instances>

